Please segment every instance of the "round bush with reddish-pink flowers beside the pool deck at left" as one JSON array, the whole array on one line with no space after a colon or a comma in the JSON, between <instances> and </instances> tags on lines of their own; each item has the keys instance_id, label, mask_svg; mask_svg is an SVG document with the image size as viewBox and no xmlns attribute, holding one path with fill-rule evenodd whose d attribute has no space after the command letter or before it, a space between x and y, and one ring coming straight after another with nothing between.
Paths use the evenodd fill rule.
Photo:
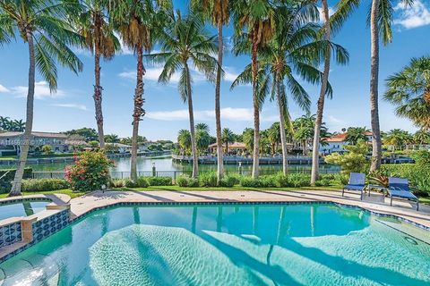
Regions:
<instances>
[{"instance_id":1,"label":"round bush with reddish-pink flowers beside the pool deck at left","mask_svg":"<svg viewBox=\"0 0 430 286\"><path fill-rule=\"evenodd\" d=\"M113 162L103 151L85 151L65 168L65 178L74 190L100 189L109 182L109 167Z\"/></svg>"}]
</instances>

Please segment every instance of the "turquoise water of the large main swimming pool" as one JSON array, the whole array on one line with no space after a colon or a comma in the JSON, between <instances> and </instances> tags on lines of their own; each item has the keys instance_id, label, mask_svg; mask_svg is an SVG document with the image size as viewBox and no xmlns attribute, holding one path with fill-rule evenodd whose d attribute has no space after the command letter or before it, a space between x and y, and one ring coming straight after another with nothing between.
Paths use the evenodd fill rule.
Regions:
<instances>
[{"instance_id":1,"label":"turquoise water of the large main swimming pool","mask_svg":"<svg viewBox=\"0 0 430 286\"><path fill-rule=\"evenodd\" d=\"M429 285L420 236L329 204L116 207L1 264L0 285Z\"/></svg>"}]
</instances>

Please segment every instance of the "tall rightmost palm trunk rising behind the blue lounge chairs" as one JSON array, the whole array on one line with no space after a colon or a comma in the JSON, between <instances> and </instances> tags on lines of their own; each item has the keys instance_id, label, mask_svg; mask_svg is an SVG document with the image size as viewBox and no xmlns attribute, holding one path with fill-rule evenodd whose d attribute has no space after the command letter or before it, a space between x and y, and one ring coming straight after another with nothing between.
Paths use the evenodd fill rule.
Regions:
<instances>
[{"instance_id":1,"label":"tall rightmost palm trunk rising behind the blue lounge chairs","mask_svg":"<svg viewBox=\"0 0 430 286\"><path fill-rule=\"evenodd\" d=\"M379 75L379 35L378 35L379 0L372 1L370 12L371 55L370 55L370 116L372 125L372 161L370 172L381 167L381 130L378 111L378 75Z\"/></svg>"}]
</instances>

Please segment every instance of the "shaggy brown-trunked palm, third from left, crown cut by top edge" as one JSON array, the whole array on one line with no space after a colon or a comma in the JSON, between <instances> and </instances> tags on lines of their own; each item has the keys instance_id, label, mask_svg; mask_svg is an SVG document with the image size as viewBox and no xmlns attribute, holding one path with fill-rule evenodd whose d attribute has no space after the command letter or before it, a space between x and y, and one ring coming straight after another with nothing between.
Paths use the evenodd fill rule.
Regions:
<instances>
[{"instance_id":1,"label":"shaggy brown-trunked palm, third from left, crown cut by top edge","mask_svg":"<svg viewBox=\"0 0 430 286\"><path fill-rule=\"evenodd\" d=\"M111 21L115 24L121 38L137 56L136 88L133 97L133 135L130 177L137 181L137 148L139 122L145 115L143 109L143 52L149 52L156 38L157 30L167 19L169 1L118 0L109 3ZM166 9L166 10L165 10Z\"/></svg>"}]
</instances>

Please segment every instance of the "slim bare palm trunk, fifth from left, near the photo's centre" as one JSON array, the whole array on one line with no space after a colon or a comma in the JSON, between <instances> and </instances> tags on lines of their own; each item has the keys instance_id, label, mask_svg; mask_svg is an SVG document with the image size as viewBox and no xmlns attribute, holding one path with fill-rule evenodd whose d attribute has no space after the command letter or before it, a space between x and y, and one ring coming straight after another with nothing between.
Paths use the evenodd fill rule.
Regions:
<instances>
[{"instance_id":1,"label":"slim bare palm trunk, fifth from left, near the photo's centre","mask_svg":"<svg viewBox=\"0 0 430 286\"><path fill-rule=\"evenodd\" d=\"M224 155L222 152L222 141L221 141L221 108L219 104L219 92L221 86L221 66L222 66L222 21L219 17L218 21L218 69L217 69L217 82L215 84L215 122L217 130L217 179L222 179L224 174Z\"/></svg>"}]
</instances>

